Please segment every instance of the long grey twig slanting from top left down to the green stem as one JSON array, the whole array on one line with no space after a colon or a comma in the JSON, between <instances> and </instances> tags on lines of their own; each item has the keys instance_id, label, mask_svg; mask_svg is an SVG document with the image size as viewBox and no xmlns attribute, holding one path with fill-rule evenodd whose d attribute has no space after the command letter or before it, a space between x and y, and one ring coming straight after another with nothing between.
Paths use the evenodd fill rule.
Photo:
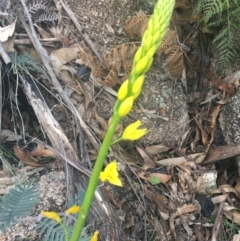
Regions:
<instances>
[{"instance_id":1,"label":"long grey twig slanting from top left down to the green stem","mask_svg":"<svg viewBox=\"0 0 240 241\"><path fill-rule=\"evenodd\" d=\"M38 52L38 55L41 57L42 62L44 64L45 68L47 69L48 74L50 75L50 78L52 80L52 84L54 85L55 89L57 90L57 92L59 93L61 98L64 100L64 102L66 103L68 108L70 110L72 110L73 114L76 115L76 117L78 118L81 127L83 128L84 132L86 133L87 137L91 141L91 143L94 146L94 148L96 150L98 150L99 149L98 143L94 139L92 133L90 132L88 126L83 121L82 117L79 115L79 113L78 113L77 109L75 108L75 106L72 104L72 102L69 100L69 98L67 97L67 95L63 91L62 86L60 85L59 81L57 80L57 78L56 78L56 76L55 76L55 74L53 72L53 69L51 68L51 66L49 64L49 57L47 55L46 50L42 47L42 45L41 45L41 43L40 43L40 41L39 41L39 39L37 37L36 31L35 31L35 29L33 27L30 14L28 12L28 9L27 9L27 6L26 6L24 0L21 0L21 3L23 5L24 11L26 13L26 16L27 16L27 19L28 19L28 22L29 22L29 26L27 25L26 21L24 20L24 18L22 17L21 14L19 14L19 18L20 18L23 26L25 27L25 29L26 29L26 31L27 31L31 41L33 42L33 45L34 45L35 49Z\"/></svg>"}]
</instances>

